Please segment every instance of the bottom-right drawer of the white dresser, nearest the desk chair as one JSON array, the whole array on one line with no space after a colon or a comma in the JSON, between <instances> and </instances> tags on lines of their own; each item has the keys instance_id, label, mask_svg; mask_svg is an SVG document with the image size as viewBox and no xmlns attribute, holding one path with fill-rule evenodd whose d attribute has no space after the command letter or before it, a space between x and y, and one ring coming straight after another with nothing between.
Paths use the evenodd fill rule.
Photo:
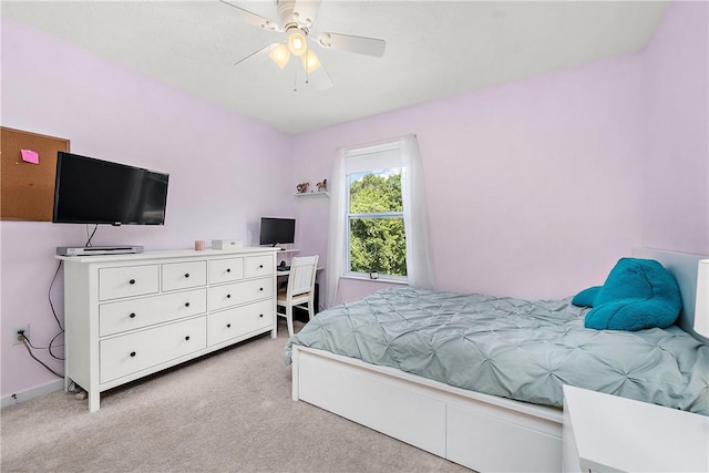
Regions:
<instances>
[{"instance_id":1,"label":"bottom-right drawer of the white dresser, nearest the desk chair","mask_svg":"<svg viewBox=\"0 0 709 473\"><path fill-rule=\"evenodd\" d=\"M263 300L209 315L208 342L222 343L253 331L273 327L274 301Z\"/></svg>"}]
</instances>

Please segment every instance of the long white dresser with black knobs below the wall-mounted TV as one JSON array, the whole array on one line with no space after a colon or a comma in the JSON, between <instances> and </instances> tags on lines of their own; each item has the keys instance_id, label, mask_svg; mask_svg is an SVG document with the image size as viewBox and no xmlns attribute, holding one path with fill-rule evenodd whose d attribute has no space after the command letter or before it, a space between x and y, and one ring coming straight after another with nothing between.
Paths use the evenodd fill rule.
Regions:
<instances>
[{"instance_id":1,"label":"long white dresser with black knobs below the wall-mounted TV","mask_svg":"<svg viewBox=\"0 0 709 473\"><path fill-rule=\"evenodd\" d=\"M270 330L276 250L239 248L58 257L73 381L100 393Z\"/></svg>"}]
</instances>

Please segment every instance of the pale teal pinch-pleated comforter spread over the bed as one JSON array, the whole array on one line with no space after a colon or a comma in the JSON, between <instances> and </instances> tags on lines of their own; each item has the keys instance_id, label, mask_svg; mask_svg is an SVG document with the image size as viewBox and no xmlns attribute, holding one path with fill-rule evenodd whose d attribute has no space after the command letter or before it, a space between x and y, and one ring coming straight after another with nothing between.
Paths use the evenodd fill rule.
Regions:
<instances>
[{"instance_id":1,"label":"pale teal pinch-pleated comforter spread over the bed","mask_svg":"<svg viewBox=\"0 0 709 473\"><path fill-rule=\"evenodd\" d=\"M584 328L569 299L383 289L325 310L291 345L458 388L562 407L571 384L709 415L709 346L678 327Z\"/></svg>"}]
</instances>

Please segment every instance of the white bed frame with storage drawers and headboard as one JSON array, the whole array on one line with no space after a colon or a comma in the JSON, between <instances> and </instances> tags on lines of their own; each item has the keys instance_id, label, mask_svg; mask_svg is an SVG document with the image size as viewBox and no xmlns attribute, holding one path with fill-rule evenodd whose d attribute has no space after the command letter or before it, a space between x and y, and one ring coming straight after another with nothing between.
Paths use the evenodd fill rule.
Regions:
<instances>
[{"instance_id":1,"label":"white bed frame with storage drawers and headboard","mask_svg":"<svg viewBox=\"0 0 709 473\"><path fill-rule=\"evenodd\" d=\"M637 249L670 269L693 318L701 256ZM685 313L686 312L686 313ZM481 472L562 471L561 409L482 394L393 368L292 346L292 399Z\"/></svg>"}]
</instances>

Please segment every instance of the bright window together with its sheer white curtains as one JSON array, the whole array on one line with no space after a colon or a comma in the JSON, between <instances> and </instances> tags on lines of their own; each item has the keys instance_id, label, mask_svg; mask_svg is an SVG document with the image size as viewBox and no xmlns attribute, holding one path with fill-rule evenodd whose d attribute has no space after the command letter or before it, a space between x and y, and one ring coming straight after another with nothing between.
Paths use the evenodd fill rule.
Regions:
<instances>
[{"instance_id":1,"label":"bright window together with its sheer white curtains","mask_svg":"<svg viewBox=\"0 0 709 473\"><path fill-rule=\"evenodd\" d=\"M415 135L339 148L329 187L326 307L342 276L434 287Z\"/></svg>"}]
</instances>

